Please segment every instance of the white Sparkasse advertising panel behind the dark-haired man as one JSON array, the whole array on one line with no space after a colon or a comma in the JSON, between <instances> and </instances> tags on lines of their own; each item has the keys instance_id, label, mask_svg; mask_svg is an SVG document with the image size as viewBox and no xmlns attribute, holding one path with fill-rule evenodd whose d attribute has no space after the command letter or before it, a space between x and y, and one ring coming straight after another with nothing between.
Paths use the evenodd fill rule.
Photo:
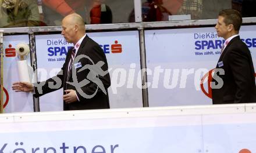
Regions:
<instances>
[{"instance_id":1,"label":"white Sparkasse advertising panel behind the dark-haired man","mask_svg":"<svg viewBox=\"0 0 256 153\"><path fill-rule=\"evenodd\" d=\"M255 35L256 26L241 27L254 66ZM223 42L214 27L145 31L150 106L212 104L205 74L216 67Z\"/></svg>"}]
</instances>

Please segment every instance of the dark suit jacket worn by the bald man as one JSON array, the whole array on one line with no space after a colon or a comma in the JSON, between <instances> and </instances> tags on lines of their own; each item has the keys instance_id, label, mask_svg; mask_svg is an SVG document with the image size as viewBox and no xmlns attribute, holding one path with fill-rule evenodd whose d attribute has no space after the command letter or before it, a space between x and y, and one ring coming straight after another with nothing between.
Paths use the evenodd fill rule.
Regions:
<instances>
[{"instance_id":1,"label":"dark suit jacket worn by the bald man","mask_svg":"<svg viewBox=\"0 0 256 153\"><path fill-rule=\"evenodd\" d=\"M72 67L72 72L76 72L76 77L71 76L69 81L67 81L67 68L69 65L69 61L71 58L71 52L72 52L72 48L67 52L67 56L66 56L66 60L65 63L63 64L62 67L62 71L60 71L58 73L58 75L56 75L53 78L49 78L47 79L47 81L45 82L38 82L43 84L42 86L42 93L40 93L40 88L38 88L38 85L34 85L35 86L35 97L39 97L42 96L46 93L49 92L53 92L55 90L61 89L63 87L63 90L66 89L73 89L76 90L76 94L79 97L80 101L76 101L74 103L70 103L70 104L66 104L65 101L63 101L63 109L64 110L90 110L90 109L102 109L102 108L109 108L109 99L108 99L108 87L111 85L111 81L110 81L110 77L109 77L109 73L108 73L108 63L106 61L106 56L103 52L103 50L101 49L101 47L98 45L98 43L94 42L93 39L89 38L87 35L86 37L83 39L83 41L80 44L79 50L77 50L76 53L76 57L74 59L74 61L76 61L77 59L79 59L79 55L83 55L82 58L79 59L78 62L73 62L73 64L81 64L80 67L76 67L75 71L73 70L74 67ZM87 57L84 57L87 56ZM84 67L84 65L93 65L93 64L97 64L98 61L103 61L104 64L102 65L101 69L103 71L106 71L107 73L103 76L101 75L97 75L95 77L95 79L99 79L102 84L104 85L104 89L106 90L106 94L104 92L102 92L102 90L99 88L99 86L92 82L89 81L89 83L84 83L86 85L82 86L80 90L80 93L82 92L82 94L79 93L79 90L77 90L76 86L74 85L70 85L69 83L66 82L77 82L78 84L81 83L81 81L83 81L84 79L87 79L87 75L89 74L91 77L93 77L91 74L96 73L97 74L97 70L95 70L95 68L93 70L90 70L89 68L86 68L85 70L78 72L81 68ZM88 81L88 79L87 79ZM54 83L53 83L54 82ZM54 86L54 88L52 88L52 86ZM79 84L81 85L81 84ZM49 86L51 88L49 88ZM65 94L63 92L63 94ZM95 96L92 96L93 94L95 94ZM88 97L88 96L92 96L92 97Z\"/></svg>"}]
</instances>

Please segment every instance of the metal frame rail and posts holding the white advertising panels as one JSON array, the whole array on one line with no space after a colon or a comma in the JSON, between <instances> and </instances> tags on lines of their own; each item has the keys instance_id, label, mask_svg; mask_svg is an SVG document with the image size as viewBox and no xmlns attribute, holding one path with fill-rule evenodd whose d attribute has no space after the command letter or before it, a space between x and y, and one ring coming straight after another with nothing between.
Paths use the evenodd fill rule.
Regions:
<instances>
[{"instance_id":1,"label":"metal frame rail and posts holding the white advertising panels","mask_svg":"<svg viewBox=\"0 0 256 153\"><path fill-rule=\"evenodd\" d=\"M134 0L134 2L137 0ZM116 23L116 24L88 24L86 26L87 31L124 31L124 30L138 30L140 39L140 63L141 69L141 79L142 85L147 84L147 65L145 56L145 35L144 30L148 29L161 29L161 28L188 28L188 27L205 27L214 26L216 24L216 19L208 20L183 20L183 21L159 21L159 22L140 22L140 23ZM256 24L256 17L248 17L243 19L243 24ZM35 34L40 34L43 32L61 32L61 26L46 26L46 27L15 27L15 28L0 28L3 34L29 34L30 37L30 48L33 49L33 54L31 54L31 66L36 70L36 50L35 50ZM2 47L2 43L1 46ZM3 91L2 91L3 92ZM143 107L148 107L148 90L142 89L143 96ZM39 101L34 98L34 111L40 111Z\"/></svg>"}]
</instances>

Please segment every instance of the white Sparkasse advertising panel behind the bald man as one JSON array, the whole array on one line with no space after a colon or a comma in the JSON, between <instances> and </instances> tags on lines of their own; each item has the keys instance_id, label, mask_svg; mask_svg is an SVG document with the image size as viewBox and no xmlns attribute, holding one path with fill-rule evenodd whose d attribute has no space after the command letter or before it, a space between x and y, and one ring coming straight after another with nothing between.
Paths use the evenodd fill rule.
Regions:
<instances>
[{"instance_id":1,"label":"white Sparkasse advertising panel behind the bald man","mask_svg":"<svg viewBox=\"0 0 256 153\"><path fill-rule=\"evenodd\" d=\"M108 88L111 108L142 107L140 48L137 31L87 33L106 54L111 87ZM36 35L38 79L56 75L67 50L73 46L60 34ZM63 90L40 97L41 111L63 110Z\"/></svg>"}]
</instances>

